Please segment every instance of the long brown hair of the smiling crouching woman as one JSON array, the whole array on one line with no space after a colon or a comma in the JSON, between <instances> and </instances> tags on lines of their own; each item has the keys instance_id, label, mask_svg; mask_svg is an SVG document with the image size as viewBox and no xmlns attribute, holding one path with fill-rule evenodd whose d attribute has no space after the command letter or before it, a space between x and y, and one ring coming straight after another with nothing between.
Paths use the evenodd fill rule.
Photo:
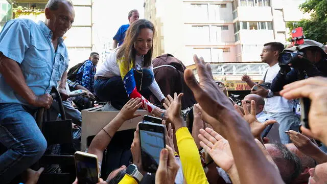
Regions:
<instances>
[{"instance_id":1,"label":"long brown hair of the smiling crouching woman","mask_svg":"<svg viewBox=\"0 0 327 184\"><path fill-rule=\"evenodd\" d=\"M152 42L155 35L155 29L151 21L146 19L138 19L134 21L126 31L126 36L121 48L117 51L116 59L119 62L123 62L124 65L129 68L130 66L135 66L135 55L136 51L134 48L134 42L137 40L137 36L141 33L141 29L149 28L153 31ZM148 67L151 65L152 53L153 53L153 43L151 49L144 56L144 66Z\"/></svg>"}]
</instances>

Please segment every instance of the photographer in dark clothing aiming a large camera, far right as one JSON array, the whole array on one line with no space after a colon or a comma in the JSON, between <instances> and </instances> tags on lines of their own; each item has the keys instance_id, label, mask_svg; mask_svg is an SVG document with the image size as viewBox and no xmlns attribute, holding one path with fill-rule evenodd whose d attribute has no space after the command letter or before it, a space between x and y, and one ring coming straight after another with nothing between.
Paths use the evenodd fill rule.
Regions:
<instances>
[{"instance_id":1,"label":"photographer in dark clothing aiming a large camera, far right","mask_svg":"<svg viewBox=\"0 0 327 184\"><path fill-rule=\"evenodd\" d=\"M324 50L325 45L309 39L305 39L303 44L285 49L284 52L298 51L300 55L289 64L279 62L281 70L271 83L271 91L280 91L284 85L297 81L299 70L305 71L308 77L327 76L327 54Z\"/></svg>"}]
</instances>

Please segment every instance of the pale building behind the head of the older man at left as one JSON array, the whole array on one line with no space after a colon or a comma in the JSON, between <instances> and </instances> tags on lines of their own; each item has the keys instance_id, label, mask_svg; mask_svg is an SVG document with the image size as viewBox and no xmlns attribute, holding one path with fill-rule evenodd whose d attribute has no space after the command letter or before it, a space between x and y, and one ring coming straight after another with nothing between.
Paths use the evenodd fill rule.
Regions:
<instances>
[{"instance_id":1,"label":"pale building behind the head of the older man at left","mask_svg":"<svg viewBox=\"0 0 327 184\"><path fill-rule=\"evenodd\" d=\"M44 8L48 0L8 0L2 4L1 22L11 18L29 18L38 22L45 20ZM86 60L93 49L92 41L92 0L72 0L75 9L73 27L64 35L68 49L69 67ZM10 15L10 16L9 16Z\"/></svg>"}]
</instances>

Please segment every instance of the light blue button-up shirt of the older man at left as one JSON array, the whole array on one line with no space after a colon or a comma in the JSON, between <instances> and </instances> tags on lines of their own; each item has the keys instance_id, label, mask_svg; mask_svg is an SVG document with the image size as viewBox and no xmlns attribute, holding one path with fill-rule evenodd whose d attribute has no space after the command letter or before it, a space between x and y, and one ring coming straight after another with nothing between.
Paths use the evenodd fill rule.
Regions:
<instances>
[{"instance_id":1,"label":"light blue button-up shirt of the older man at left","mask_svg":"<svg viewBox=\"0 0 327 184\"><path fill-rule=\"evenodd\" d=\"M63 39L58 38L57 52L52 44L52 31L39 21L9 20L0 33L0 52L16 61L26 84L36 96L50 93L68 67L68 53ZM14 92L0 74L0 103L28 103Z\"/></svg>"}]
</instances>

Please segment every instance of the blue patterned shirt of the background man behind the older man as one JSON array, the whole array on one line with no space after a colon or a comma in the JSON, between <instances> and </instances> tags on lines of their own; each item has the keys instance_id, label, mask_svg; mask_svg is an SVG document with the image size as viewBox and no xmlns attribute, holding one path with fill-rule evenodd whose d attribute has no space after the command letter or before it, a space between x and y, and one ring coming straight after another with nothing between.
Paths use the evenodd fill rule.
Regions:
<instances>
[{"instance_id":1,"label":"blue patterned shirt of the background man behind the older man","mask_svg":"<svg viewBox=\"0 0 327 184\"><path fill-rule=\"evenodd\" d=\"M97 68L93 65L92 61L86 60L80 67L76 75L76 81L91 93L94 93L94 77L96 76Z\"/></svg>"}]
</instances>

